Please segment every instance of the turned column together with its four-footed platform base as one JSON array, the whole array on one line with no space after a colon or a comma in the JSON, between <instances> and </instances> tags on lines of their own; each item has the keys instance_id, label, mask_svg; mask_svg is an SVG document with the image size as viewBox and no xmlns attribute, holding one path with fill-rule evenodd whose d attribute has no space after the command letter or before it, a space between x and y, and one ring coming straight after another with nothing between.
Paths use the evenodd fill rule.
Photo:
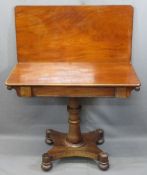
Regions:
<instances>
[{"instance_id":1,"label":"turned column together with its four-footed platform base","mask_svg":"<svg viewBox=\"0 0 147 175\"><path fill-rule=\"evenodd\" d=\"M96 129L88 133L81 133L80 110L78 98L69 98L67 106L69 112L68 133L61 133L55 130L46 130L46 143L53 144L53 147L42 155L41 167L48 171L52 168L52 161L66 157L86 157L98 161L102 170L109 168L108 155L97 147L97 144L104 142L104 132Z\"/></svg>"}]
</instances>

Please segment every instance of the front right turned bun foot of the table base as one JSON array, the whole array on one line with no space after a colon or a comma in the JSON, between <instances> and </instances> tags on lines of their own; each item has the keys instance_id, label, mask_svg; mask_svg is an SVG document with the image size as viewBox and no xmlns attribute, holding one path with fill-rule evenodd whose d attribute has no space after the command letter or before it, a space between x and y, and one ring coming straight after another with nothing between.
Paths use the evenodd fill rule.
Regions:
<instances>
[{"instance_id":1,"label":"front right turned bun foot of the table base","mask_svg":"<svg viewBox=\"0 0 147 175\"><path fill-rule=\"evenodd\" d=\"M106 171L109 168L108 155L106 153L100 153L98 166L101 170Z\"/></svg>"}]
</instances>

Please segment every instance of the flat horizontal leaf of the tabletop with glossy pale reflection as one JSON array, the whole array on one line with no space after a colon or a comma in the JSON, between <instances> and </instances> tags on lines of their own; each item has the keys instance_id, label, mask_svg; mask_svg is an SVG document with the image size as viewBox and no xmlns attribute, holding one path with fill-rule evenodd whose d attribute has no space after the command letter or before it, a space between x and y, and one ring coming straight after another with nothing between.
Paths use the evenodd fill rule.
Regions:
<instances>
[{"instance_id":1,"label":"flat horizontal leaf of the tabletop with glossy pale reflection","mask_svg":"<svg viewBox=\"0 0 147 175\"><path fill-rule=\"evenodd\" d=\"M48 62L18 63L6 85L137 87L140 81L128 63Z\"/></svg>"}]
</instances>

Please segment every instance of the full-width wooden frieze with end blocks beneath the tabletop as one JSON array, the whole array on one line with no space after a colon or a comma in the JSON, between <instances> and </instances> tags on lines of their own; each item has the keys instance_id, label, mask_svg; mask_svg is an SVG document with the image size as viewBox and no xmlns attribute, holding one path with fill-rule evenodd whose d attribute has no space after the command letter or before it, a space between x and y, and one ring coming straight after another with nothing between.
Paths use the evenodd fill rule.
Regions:
<instances>
[{"instance_id":1,"label":"full-width wooden frieze with end blocks beneath the tabletop","mask_svg":"<svg viewBox=\"0 0 147 175\"><path fill-rule=\"evenodd\" d=\"M20 97L117 97L127 98L132 87L11 86Z\"/></svg>"}]
</instances>

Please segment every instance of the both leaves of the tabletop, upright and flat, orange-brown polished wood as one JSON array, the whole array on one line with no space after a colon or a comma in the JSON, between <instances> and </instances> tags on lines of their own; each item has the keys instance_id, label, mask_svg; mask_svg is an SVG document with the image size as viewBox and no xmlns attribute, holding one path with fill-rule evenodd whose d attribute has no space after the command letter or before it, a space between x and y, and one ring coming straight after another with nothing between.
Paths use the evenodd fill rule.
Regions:
<instances>
[{"instance_id":1,"label":"both leaves of the tabletop, upright and flat, orange-brown polished wood","mask_svg":"<svg viewBox=\"0 0 147 175\"><path fill-rule=\"evenodd\" d=\"M7 86L137 87L131 6L18 6Z\"/></svg>"}]
</instances>

